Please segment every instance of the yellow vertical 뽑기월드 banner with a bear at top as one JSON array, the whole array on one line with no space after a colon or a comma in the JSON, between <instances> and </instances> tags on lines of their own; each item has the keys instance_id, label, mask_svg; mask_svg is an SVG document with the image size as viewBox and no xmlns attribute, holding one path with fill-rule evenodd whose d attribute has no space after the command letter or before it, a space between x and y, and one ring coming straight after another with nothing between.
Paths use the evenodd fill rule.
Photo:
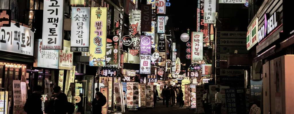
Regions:
<instances>
[{"instance_id":1,"label":"yellow vertical \ubf51\uae30\uc6d4\ub4dc banner with a bear at top","mask_svg":"<svg viewBox=\"0 0 294 114\"><path fill-rule=\"evenodd\" d=\"M107 8L91 7L89 66L105 66Z\"/></svg>"}]
</instances>

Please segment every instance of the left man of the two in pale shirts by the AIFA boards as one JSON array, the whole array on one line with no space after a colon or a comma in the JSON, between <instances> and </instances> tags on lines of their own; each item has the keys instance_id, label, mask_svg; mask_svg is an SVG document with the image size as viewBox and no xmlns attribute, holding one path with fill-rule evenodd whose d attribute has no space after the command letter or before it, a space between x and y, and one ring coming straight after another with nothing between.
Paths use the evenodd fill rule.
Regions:
<instances>
[{"instance_id":1,"label":"left man of the two in pale shirts by the AIFA boards","mask_svg":"<svg viewBox=\"0 0 294 114\"><path fill-rule=\"evenodd\" d=\"M204 108L204 113L205 114L211 114L211 99L212 99L212 96L211 94L209 94L209 91L208 89L206 89L206 94L203 95L203 101L204 101L204 104L203 104L203 108Z\"/></svg>"}]
</instances>

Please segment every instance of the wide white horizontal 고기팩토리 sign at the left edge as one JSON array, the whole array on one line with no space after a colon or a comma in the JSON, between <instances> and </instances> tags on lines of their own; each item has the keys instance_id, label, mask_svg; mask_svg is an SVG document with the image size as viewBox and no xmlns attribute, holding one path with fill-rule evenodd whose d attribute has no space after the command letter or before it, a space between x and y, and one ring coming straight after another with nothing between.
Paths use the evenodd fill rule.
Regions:
<instances>
[{"instance_id":1,"label":"wide white horizontal \uace0\uae30\ud329\ud1a0\ub9ac sign at the left edge","mask_svg":"<svg viewBox=\"0 0 294 114\"><path fill-rule=\"evenodd\" d=\"M30 28L20 26L19 28L10 24L10 27L1 27L0 50L34 55L34 32Z\"/></svg>"}]
</instances>

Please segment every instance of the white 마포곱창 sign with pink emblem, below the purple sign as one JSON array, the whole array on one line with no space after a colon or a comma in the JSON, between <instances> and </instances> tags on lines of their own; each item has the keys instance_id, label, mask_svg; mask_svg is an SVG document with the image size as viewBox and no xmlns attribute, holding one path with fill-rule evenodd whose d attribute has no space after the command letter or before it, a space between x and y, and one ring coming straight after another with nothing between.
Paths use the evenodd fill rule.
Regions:
<instances>
[{"instance_id":1,"label":"white \ub9c8\ud3ec\uacf1\ucc3d sign with pink emblem, below the purple sign","mask_svg":"<svg viewBox=\"0 0 294 114\"><path fill-rule=\"evenodd\" d=\"M151 73L151 55L140 55L140 74Z\"/></svg>"}]
</instances>

